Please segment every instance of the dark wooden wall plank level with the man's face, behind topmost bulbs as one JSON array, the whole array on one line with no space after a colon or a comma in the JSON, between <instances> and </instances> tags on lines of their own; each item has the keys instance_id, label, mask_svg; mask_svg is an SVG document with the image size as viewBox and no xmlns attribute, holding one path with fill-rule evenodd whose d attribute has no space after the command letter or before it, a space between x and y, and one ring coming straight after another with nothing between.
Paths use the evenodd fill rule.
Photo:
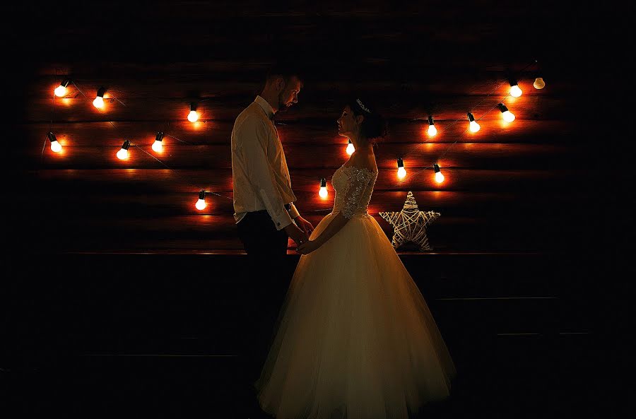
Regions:
<instances>
[{"instance_id":1,"label":"dark wooden wall plank level with the man's face, behind topmost bulbs","mask_svg":"<svg viewBox=\"0 0 636 419\"><path fill-rule=\"evenodd\" d=\"M119 65L118 65L119 64ZM457 66L430 68L428 64L416 60L408 66L426 71L425 77L410 77L408 80L391 78L387 65L368 64L375 71L365 73L357 80L343 80L342 74L331 71L322 73L317 80L305 82L298 95L301 100L307 98L325 98L333 95L364 95L375 98L417 97L433 107L443 107L447 100L455 96L493 95L505 97L510 90L503 69L474 69L467 72ZM384 68L384 71L382 71ZM404 71L404 66L401 67ZM175 63L165 65L143 65L137 63L113 63L106 68L96 63L78 62L66 69L59 69L54 63L39 69L40 72L54 75L34 75L32 83L27 86L25 95L31 100L35 98L51 98L54 88L69 76L73 83L67 88L66 97L82 98L82 93L91 100L95 98L99 88L106 88L104 96L127 99L149 98L231 98L237 95L259 93L264 86L267 64L249 61L218 60L211 63ZM315 71L315 70L312 70ZM213 77L211 77L213 76ZM577 93L576 86L567 81L551 81L546 88L536 90L532 83L534 77L530 73L522 73L517 79L523 95L571 95ZM496 99L495 99L496 100ZM514 98L510 98L514 100ZM115 105L116 102L112 102ZM380 105L380 103L378 104ZM119 105L121 106L121 105Z\"/></svg>"}]
</instances>

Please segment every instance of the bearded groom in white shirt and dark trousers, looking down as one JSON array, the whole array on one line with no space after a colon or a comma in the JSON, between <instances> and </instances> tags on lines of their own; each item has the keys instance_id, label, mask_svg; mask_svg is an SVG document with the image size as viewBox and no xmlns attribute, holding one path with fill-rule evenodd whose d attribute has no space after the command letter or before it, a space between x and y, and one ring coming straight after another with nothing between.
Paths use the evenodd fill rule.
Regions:
<instances>
[{"instance_id":1,"label":"bearded groom in white shirt and dark trousers, looking down","mask_svg":"<svg viewBox=\"0 0 636 419\"><path fill-rule=\"evenodd\" d=\"M289 285L284 275L288 237L300 245L314 229L294 206L285 152L273 122L275 114L298 102L300 88L297 71L273 66L262 93L232 129L234 217L249 264L242 353L252 381L259 377Z\"/></svg>"}]
</instances>

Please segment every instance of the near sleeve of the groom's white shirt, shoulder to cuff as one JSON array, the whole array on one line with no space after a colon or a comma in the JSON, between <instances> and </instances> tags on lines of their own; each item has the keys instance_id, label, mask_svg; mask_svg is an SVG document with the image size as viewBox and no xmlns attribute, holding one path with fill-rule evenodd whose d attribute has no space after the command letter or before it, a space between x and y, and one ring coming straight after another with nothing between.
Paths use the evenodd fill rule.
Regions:
<instances>
[{"instance_id":1,"label":"near sleeve of the groom's white shirt, shoulder to cuff","mask_svg":"<svg viewBox=\"0 0 636 419\"><path fill-rule=\"evenodd\" d=\"M254 192L261 196L276 230L282 230L292 223L292 218L276 188L273 168L267 159L265 142L268 135L266 126L257 117L245 119L237 132Z\"/></svg>"}]
</instances>

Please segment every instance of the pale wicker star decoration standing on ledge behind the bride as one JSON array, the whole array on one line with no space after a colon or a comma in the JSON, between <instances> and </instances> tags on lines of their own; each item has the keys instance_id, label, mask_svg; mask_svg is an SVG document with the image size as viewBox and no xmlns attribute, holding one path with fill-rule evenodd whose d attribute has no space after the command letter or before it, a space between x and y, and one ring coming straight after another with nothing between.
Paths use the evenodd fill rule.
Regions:
<instances>
[{"instance_id":1,"label":"pale wicker star decoration standing on ledge behind the bride","mask_svg":"<svg viewBox=\"0 0 636 419\"><path fill-rule=\"evenodd\" d=\"M432 250L426 237L426 226L437 220L440 213L434 211L420 211L413 192L408 191L404 208L399 213L382 212L379 215L393 225L393 247L397 249L406 242L414 242L420 247L420 252Z\"/></svg>"}]
</instances>

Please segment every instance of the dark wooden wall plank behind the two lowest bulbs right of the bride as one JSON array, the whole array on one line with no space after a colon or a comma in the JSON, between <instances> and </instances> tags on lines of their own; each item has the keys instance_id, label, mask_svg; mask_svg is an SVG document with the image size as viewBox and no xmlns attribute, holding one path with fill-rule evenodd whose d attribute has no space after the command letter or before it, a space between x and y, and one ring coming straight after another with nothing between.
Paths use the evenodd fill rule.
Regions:
<instances>
[{"instance_id":1,"label":"dark wooden wall plank behind the two lowest bulbs right of the bride","mask_svg":"<svg viewBox=\"0 0 636 419\"><path fill-rule=\"evenodd\" d=\"M232 171L224 170L180 170L128 169L126 162L117 162L121 169L95 170L37 170L25 172L25 181L38 187L42 180L47 187L64 187L67 190L126 188L139 191L196 192L199 187L208 191L227 193L232 191ZM320 177L331 183L333 170L290 170L294 191L315 191ZM583 170L444 170L444 183L437 184L432 170L416 175L411 168L403 181L397 179L396 171L381 172L375 191L558 191L567 187L572 191L584 190L585 179L592 174ZM577 182L573 184L572 182ZM578 183L580 182L580 183Z\"/></svg>"}]
</instances>

